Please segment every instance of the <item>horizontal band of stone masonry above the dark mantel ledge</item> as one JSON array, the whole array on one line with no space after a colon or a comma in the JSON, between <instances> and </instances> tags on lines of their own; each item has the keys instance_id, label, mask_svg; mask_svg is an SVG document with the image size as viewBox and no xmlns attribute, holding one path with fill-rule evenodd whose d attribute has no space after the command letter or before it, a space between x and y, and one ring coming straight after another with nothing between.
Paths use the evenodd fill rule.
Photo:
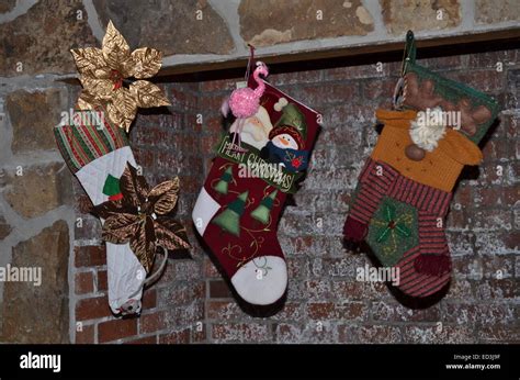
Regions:
<instances>
[{"instance_id":1,"label":"horizontal band of stone masonry above the dark mantel ledge","mask_svg":"<svg viewBox=\"0 0 520 380\"><path fill-rule=\"evenodd\" d=\"M102 40L109 20L165 66L223 63L517 30L517 0L24 0L0 8L0 75L75 74L70 48ZM518 36L518 33L517 33ZM23 67L23 74L20 70ZM196 70L193 68L191 70Z\"/></svg>"}]
</instances>

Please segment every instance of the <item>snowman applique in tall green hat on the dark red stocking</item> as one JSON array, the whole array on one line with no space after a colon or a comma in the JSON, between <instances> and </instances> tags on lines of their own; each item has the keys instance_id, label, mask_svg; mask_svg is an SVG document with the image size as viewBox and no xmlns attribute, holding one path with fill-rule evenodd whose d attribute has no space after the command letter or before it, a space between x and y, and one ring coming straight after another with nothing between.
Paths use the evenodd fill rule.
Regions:
<instances>
[{"instance_id":1,"label":"snowman applique in tall green hat on the dark red stocking","mask_svg":"<svg viewBox=\"0 0 520 380\"><path fill-rule=\"evenodd\" d=\"M294 104L289 103L269 133L269 142L260 150L260 157L280 164L291 172L305 170L309 156L308 150L304 149L306 132L305 116Z\"/></svg>"}]
</instances>

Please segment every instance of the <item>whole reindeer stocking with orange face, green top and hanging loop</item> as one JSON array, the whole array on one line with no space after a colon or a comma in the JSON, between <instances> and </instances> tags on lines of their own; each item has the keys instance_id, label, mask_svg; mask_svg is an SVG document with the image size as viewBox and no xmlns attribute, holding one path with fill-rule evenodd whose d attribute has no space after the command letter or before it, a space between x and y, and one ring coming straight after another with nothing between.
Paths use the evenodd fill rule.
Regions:
<instances>
[{"instance_id":1,"label":"whole reindeer stocking with orange face, green top and hanging loop","mask_svg":"<svg viewBox=\"0 0 520 380\"><path fill-rule=\"evenodd\" d=\"M497 114L489 97L415 64L414 35L399 108L376 112L384 124L344 224L347 239L366 239L385 267L399 269L398 288L427 297L450 281L444 217L464 165L477 165L476 145Z\"/></svg>"}]
</instances>

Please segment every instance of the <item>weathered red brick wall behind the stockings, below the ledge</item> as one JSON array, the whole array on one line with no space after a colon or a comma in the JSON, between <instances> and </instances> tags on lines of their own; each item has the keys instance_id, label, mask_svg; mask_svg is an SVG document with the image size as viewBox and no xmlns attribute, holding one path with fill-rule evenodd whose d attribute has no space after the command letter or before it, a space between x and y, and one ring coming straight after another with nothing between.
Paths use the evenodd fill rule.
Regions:
<instances>
[{"instance_id":1,"label":"weathered red brick wall behind the stockings, below the ledge","mask_svg":"<svg viewBox=\"0 0 520 380\"><path fill-rule=\"evenodd\" d=\"M165 83L172 114L139 115L133 148L150 183L180 176L177 212L190 227L192 258L170 259L161 280L145 292L140 317L114 318L100 226L86 213L88 201L76 183L77 214L83 219L76 228L72 323L82 327L76 342L519 343L519 51L510 49L421 62L495 96L502 109L484 164L466 168L456 187L448 217L452 284L430 304L397 300L384 284L355 281L355 268L371 261L341 242L350 193L376 142L374 110L388 104L400 63L383 63L377 70L375 58L270 76L273 85L324 114L296 205L287 206L280 222L290 283L285 304L270 317L237 303L190 221L223 132L221 103L237 79Z\"/></svg>"}]
</instances>

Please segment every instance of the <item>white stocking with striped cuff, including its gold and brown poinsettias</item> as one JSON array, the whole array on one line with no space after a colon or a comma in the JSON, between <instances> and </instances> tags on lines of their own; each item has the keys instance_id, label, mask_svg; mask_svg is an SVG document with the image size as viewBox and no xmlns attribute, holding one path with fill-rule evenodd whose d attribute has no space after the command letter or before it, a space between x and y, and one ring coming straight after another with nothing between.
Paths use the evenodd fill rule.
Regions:
<instances>
[{"instance_id":1,"label":"white stocking with striped cuff, including its gold and brown poinsettias","mask_svg":"<svg viewBox=\"0 0 520 380\"><path fill-rule=\"evenodd\" d=\"M143 287L165 268L168 250L189 247L185 230L171 217L179 179L150 189L121 130L128 132L138 108L170 104L159 87L144 80L160 69L162 54L150 47L132 52L112 22L101 48L71 53L83 87L77 102L82 111L55 128L56 141L103 223L110 308L138 313ZM146 279L158 246L162 265Z\"/></svg>"}]
</instances>

